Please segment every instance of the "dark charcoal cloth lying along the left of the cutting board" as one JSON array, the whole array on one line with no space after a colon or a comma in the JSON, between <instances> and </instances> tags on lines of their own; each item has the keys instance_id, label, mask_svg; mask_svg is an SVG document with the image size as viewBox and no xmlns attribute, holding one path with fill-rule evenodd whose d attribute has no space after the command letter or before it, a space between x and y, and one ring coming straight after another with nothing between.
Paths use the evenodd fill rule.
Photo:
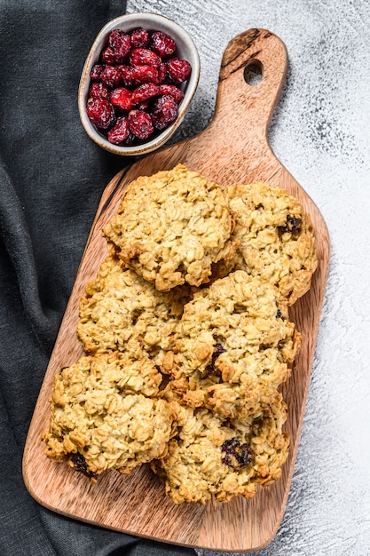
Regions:
<instances>
[{"instance_id":1,"label":"dark charcoal cloth lying along the left of the cutting board","mask_svg":"<svg viewBox=\"0 0 370 556\"><path fill-rule=\"evenodd\" d=\"M28 425L99 200L127 163L89 139L77 107L91 44L125 11L122 0L0 0L2 556L179 553L51 512L22 477Z\"/></svg>"}]
</instances>

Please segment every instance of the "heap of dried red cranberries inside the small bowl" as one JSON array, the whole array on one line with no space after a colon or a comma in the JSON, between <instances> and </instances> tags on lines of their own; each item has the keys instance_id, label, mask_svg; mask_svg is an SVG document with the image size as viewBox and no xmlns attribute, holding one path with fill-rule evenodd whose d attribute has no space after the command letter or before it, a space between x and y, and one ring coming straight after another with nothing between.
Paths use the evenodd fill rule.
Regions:
<instances>
[{"instance_id":1,"label":"heap of dried red cranberries inside the small bowl","mask_svg":"<svg viewBox=\"0 0 370 556\"><path fill-rule=\"evenodd\" d=\"M100 61L91 69L86 109L112 143L147 139L154 129L161 131L177 119L177 104L184 99L177 84L192 68L175 56L176 47L162 31L135 28L129 35L116 28L109 33Z\"/></svg>"}]
</instances>

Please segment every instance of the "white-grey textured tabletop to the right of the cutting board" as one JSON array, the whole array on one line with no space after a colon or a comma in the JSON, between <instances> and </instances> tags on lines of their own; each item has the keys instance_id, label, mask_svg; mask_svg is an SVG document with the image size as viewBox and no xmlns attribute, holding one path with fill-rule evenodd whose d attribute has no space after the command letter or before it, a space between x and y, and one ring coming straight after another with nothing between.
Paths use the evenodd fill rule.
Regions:
<instances>
[{"instance_id":1,"label":"white-grey textured tabletop to the right of the cutting board","mask_svg":"<svg viewBox=\"0 0 370 556\"><path fill-rule=\"evenodd\" d=\"M182 24L201 81L178 139L209 123L224 48L248 28L287 46L274 153L327 222L331 264L287 508L259 556L370 555L370 2L129 0ZM199 551L201 556L220 552Z\"/></svg>"}]
</instances>

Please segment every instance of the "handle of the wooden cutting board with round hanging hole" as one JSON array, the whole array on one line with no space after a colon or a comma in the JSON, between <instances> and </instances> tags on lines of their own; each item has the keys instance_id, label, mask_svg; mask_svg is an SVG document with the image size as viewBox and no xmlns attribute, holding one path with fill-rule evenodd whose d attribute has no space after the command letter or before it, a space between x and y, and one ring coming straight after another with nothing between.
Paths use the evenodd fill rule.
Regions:
<instances>
[{"instance_id":1,"label":"handle of the wooden cutting board with round hanging hole","mask_svg":"<svg viewBox=\"0 0 370 556\"><path fill-rule=\"evenodd\" d=\"M245 73L254 66L259 83L249 84ZM287 75L287 49L270 31L248 29L227 45L221 62L215 113L209 131L229 130L240 142L266 139L267 128ZM229 134L227 139L231 139ZM267 139L266 139L267 141Z\"/></svg>"}]
</instances>

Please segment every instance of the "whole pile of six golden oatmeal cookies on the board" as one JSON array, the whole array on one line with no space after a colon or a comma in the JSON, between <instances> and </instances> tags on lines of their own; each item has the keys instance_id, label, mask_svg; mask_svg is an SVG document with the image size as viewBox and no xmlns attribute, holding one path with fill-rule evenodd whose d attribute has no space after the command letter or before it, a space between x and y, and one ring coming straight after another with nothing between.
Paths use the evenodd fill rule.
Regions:
<instances>
[{"instance_id":1,"label":"whole pile of six golden oatmeal cookies on the board","mask_svg":"<svg viewBox=\"0 0 370 556\"><path fill-rule=\"evenodd\" d=\"M86 353L54 377L48 457L92 481L150 464L176 503L247 498L281 474L288 307L317 266L287 191L178 164L125 188L80 302Z\"/></svg>"}]
</instances>

